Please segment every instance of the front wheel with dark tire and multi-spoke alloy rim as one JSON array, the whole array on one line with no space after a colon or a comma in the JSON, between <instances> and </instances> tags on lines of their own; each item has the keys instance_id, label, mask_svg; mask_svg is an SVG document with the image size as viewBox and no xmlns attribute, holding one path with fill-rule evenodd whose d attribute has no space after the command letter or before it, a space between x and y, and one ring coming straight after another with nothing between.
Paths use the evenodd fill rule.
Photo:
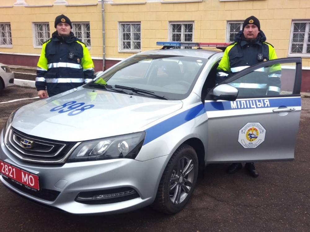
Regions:
<instances>
[{"instance_id":1,"label":"front wheel with dark tire and multi-spoke alloy rim","mask_svg":"<svg viewBox=\"0 0 310 232\"><path fill-rule=\"evenodd\" d=\"M194 148L181 145L162 174L152 208L166 214L181 211L194 191L197 176L198 158Z\"/></svg>"}]
</instances>

